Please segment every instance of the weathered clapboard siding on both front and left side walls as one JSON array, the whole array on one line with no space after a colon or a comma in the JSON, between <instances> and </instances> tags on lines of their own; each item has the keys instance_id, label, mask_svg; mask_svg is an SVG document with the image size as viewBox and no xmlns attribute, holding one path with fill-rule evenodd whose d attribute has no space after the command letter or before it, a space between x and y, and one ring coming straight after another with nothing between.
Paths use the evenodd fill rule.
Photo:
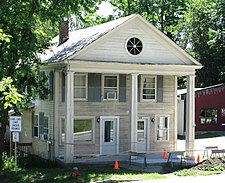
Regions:
<instances>
[{"instance_id":1,"label":"weathered clapboard siding on both front and left side walls","mask_svg":"<svg viewBox=\"0 0 225 183\"><path fill-rule=\"evenodd\" d=\"M99 116L119 116L119 152L125 153L129 150L129 128L130 128L130 75L126 75L126 101L102 101L102 102L88 102L88 101L74 101L74 115L75 116L93 116L96 119ZM138 116L154 118L155 115L169 115L170 116L170 140L166 142L155 141L155 124L150 122L150 152L162 151L162 146L168 150L174 149L174 111L175 111L175 79L174 76L163 76L163 102L157 103L156 101L151 102L138 102ZM50 117L50 137L53 136L53 125L59 123L59 121L53 122L54 111L53 101L39 101L39 105L35 107L35 113L44 112L45 115ZM58 106L58 119L65 117L65 102L59 101ZM74 155L81 154L99 154L100 153L100 124L95 123L94 129L94 142L88 144L74 143ZM27 126L28 127L28 126ZM33 152L38 156L48 159L49 152L46 149L46 141L39 140L38 138L32 138L33 141ZM64 148L63 145L59 145L57 156L63 156Z\"/></svg>"}]
</instances>

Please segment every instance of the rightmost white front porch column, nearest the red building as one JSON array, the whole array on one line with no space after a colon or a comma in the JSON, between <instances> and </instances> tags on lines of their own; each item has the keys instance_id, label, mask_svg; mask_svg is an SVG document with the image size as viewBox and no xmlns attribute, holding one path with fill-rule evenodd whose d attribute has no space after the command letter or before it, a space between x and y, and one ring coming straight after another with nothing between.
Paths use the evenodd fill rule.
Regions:
<instances>
[{"instance_id":1,"label":"rightmost white front porch column, nearest the red building","mask_svg":"<svg viewBox=\"0 0 225 183\"><path fill-rule=\"evenodd\" d=\"M195 141L195 75L187 77L186 98L186 151L192 156Z\"/></svg>"}]
</instances>

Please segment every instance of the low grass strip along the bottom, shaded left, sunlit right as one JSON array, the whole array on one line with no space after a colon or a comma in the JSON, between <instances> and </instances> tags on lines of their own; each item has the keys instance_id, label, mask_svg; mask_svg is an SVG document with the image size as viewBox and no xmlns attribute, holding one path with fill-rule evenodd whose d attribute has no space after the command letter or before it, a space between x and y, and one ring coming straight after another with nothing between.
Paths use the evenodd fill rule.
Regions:
<instances>
[{"instance_id":1,"label":"low grass strip along the bottom, shaded left, sunlit right","mask_svg":"<svg viewBox=\"0 0 225 183\"><path fill-rule=\"evenodd\" d=\"M1 172L0 180L1 183L8 182L79 182L87 183L93 181L103 181L103 180L149 180L149 179L160 179L165 178L165 176L158 173L141 173L134 172L130 170L120 169L114 170L111 167L101 170L91 171L89 169L81 168L79 169L81 174L76 179L70 177L71 171L69 169L63 168L29 168L23 169L15 175L15 172Z\"/></svg>"}]
</instances>

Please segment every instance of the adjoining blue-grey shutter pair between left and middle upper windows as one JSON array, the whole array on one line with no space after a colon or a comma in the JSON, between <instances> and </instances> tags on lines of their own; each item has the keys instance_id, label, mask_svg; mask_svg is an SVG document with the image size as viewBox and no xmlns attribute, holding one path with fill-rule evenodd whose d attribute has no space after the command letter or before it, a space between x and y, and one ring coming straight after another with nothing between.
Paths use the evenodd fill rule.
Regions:
<instances>
[{"instance_id":1,"label":"adjoining blue-grey shutter pair between left and middle upper windows","mask_svg":"<svg viewBox=\"0 0 225 183\"><path fill-rule=\"evenodd\" d=\"M101 74L88 74L88 101L101 102Z\"/></svg>"}]
</instances>

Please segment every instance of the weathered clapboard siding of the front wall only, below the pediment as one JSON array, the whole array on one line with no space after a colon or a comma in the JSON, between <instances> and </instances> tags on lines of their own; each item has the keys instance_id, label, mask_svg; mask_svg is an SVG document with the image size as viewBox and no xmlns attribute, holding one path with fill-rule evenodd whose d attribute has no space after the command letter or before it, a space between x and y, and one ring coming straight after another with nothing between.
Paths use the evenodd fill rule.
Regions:
<instances>
[{"instance_id":1,"label":"weathered clapboard siding of the front wall only, below the pediment","mask_svg":"<svg viewBox=\"0 0 225 183\"><path fill-rule=\"evenodd\" d=\"M174 111L175 111L175 87L174 76L164 76L163 88L163 103L152 102L139 102L138 103L138 116L154 118L155 115L169 115L170 116L170 140L166 142L155 141L155 125L150 123L150 151L162 151L162 146L157 144L164 144L164 147L174 149ZM129 143L129 97L130 97L130 77L126 77L126 102L119 101L103 101L103 102L74 102L75 116L119 116L119 151L120 153L127 152ZM76 144L74 147L75 154L98 154L100 145L100 125L95 124L95 143L82 145ZM97 147L97 148L96 148Z\"/></svg>"}]
</instances>

